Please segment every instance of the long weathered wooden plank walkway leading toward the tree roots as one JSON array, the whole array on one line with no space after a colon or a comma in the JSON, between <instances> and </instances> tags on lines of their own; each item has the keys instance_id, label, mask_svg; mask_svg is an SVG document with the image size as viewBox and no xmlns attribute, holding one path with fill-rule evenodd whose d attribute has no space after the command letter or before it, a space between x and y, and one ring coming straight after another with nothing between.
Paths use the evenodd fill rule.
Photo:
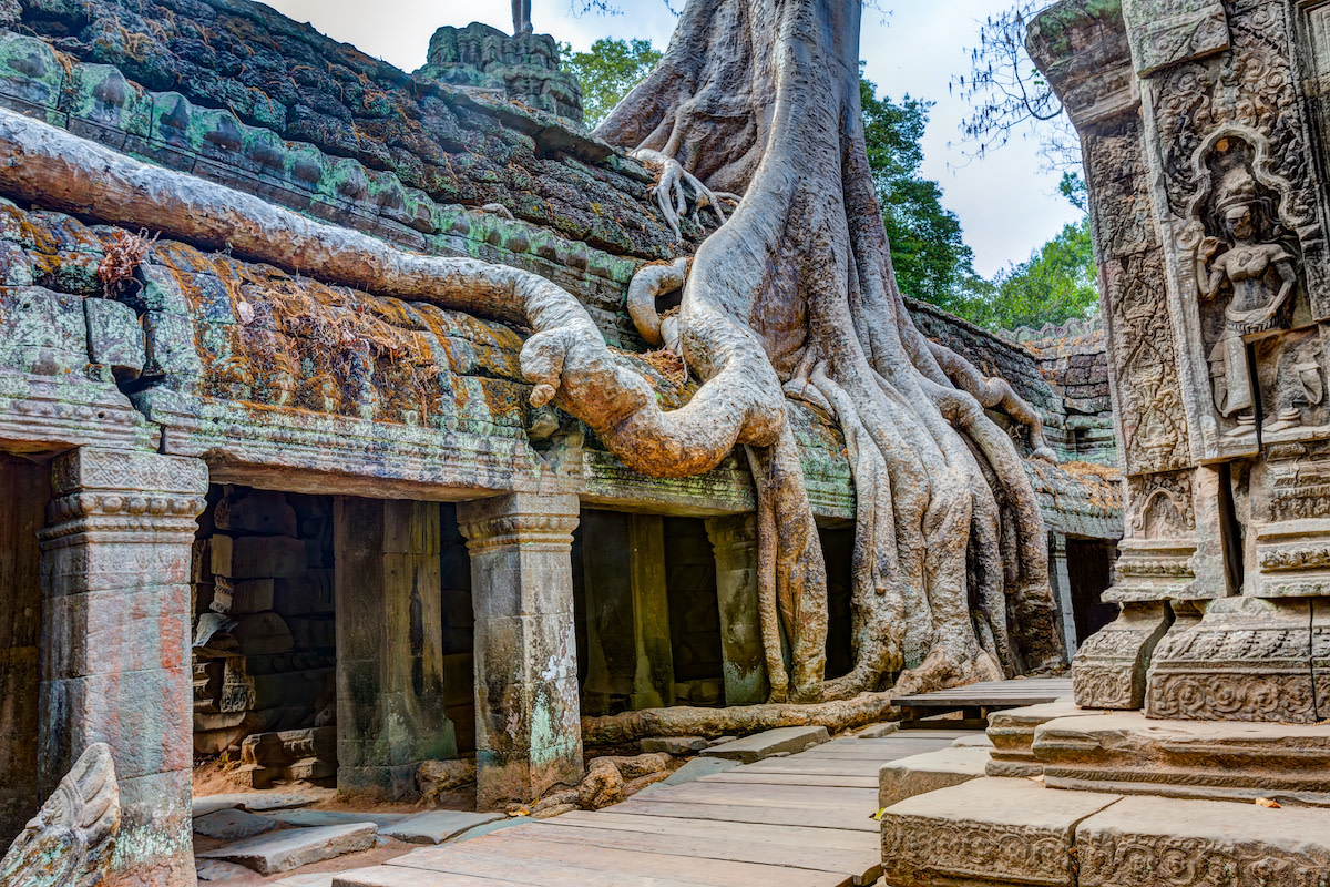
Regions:
<instances>
[{"instance_id":1,"label":"long weathered wooden plank walkway leading toward the tree roots","mask_svg":"<svg viewBox=\"0 0 1330 887\"><path fill-rule=\"evenodd\" d=\"M878 769L970 735L910 730L652 786L569 813L415 850L334 887L851 887L882 874Z\"/></svg>"}]
</instances>

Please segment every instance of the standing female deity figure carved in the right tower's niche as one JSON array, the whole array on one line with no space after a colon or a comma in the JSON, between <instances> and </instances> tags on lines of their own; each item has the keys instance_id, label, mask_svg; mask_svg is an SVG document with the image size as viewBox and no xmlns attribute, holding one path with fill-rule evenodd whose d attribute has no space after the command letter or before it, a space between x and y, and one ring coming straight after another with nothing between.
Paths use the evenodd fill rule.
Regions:
<instances>
[{"instance_id":1,"label":"standing female deity figure carved in the right tower's niche","mask_svg":"<svg viewBox=\"0 0 1330 887\"><path fill-rule=\"evenodd\" d=\"M1234 435L1256 430L1256 394L1246 343L1286 326L1285 306L1297 287L1294 258L1279 243L1262 243L1257 235L1260 207L1240 202L1224 211L1229 249L1212 263L1202 298L1213 301L1228 289L1224 332L1210 351L1214 406L1224 416L1236 416ZM1297 424L1297 415L1278 416L1278 424Z\"/></svg>"}]
</instances>

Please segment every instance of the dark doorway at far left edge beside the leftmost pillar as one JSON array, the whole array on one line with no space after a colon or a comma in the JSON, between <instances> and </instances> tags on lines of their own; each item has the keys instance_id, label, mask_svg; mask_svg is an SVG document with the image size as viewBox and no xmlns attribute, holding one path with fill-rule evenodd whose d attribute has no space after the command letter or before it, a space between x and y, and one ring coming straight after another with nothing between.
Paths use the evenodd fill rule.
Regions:
<instances>
[{"instance_id":1,"label":"dark doorway at far left edge beside the leftmost pillar","mask_svg":"<svg viewBox=\"0 0 1330 887\"><path fill-rule=\"evenodd\" d=\"M0 453L0 847L41 806L37 686L41 551L51 467Z\"/></svg>"}]
</instances>

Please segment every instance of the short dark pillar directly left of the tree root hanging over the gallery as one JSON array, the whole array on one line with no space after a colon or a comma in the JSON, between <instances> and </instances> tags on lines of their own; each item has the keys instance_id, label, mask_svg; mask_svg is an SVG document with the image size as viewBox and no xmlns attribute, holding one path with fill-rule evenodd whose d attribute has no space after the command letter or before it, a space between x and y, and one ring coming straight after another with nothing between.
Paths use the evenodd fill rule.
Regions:
<instances>
[{"instance_id":1,"label":"short dark pillar directly left of the tree root hanging over the gallery","mask_svg":"<svg viewBox=\"0 0 1330 887\"><path fill-rule=\"evenodd\" d=\"M725 657L725 705L755 705L770 693L757 609L757 517L706 521L716 552L716 593Z\"/></svg>"}]
</instances>

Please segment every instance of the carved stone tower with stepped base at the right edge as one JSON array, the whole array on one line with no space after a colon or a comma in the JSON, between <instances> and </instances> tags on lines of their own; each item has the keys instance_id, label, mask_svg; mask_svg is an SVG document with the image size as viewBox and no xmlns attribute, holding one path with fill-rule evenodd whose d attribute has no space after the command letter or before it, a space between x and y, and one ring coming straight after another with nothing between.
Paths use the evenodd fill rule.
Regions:
<instances>
[{"instance_id":1,"label":"carved stone tower with stepped base at the right edge","mask_svg":"<svg viewBox=\"0 0 1330 887\"><path fill-rule=\"evenodd\" d=\"M1327 15L1064 0L1031 23L1084 146L1121 613L1075 698L992 715L962 785L887 810L888 883L1326 883Z\"/></svg>"}]
</instances>

